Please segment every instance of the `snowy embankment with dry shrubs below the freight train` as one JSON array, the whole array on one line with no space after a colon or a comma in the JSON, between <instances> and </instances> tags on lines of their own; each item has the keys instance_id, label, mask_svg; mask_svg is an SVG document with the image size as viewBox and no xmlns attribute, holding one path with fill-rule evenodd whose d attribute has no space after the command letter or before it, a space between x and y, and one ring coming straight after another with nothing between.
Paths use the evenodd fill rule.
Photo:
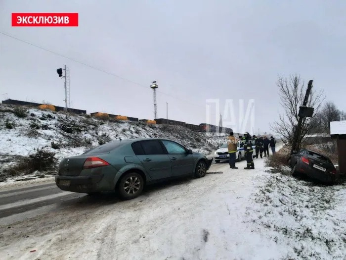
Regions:
<instances>
[{"instance_id":1,"label":"snowy embankment with dry shrubs below the freight train","mask_svg":"<svg viewBox=\"0 0 346 260\"><path fill-rule=\"evenodd\" d=\"M7 182L46 177L47 172L26 173L25 176L15 172L16 176L11 176L6 171L41 148L54 152L58 161L119 138L169 138L206 155L216 148L210 143L215 134L193 132L185 127L70 116L4 104L0 104L0 136L0 181Z\"/></svg>"}]
</instances>

